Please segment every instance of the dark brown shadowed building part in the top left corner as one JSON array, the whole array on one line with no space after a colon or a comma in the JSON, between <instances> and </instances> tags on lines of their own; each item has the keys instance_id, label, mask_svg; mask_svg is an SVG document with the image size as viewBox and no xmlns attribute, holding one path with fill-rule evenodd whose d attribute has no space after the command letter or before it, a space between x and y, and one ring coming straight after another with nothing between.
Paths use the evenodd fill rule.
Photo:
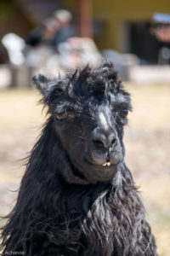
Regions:
<instances>
[{"instance_id":1,"label":"dark brown shadowed building part in the top left corner","mask_svg":"<svg viewBox=\"0 0 170 256\"><path fill-rule=\"evenodd\" d=\"M28 32L54 14L66 8L62 0L0 0L0 63L8 61L1 38L9 32L26 38Z\"/></svg>"}]
</instances>

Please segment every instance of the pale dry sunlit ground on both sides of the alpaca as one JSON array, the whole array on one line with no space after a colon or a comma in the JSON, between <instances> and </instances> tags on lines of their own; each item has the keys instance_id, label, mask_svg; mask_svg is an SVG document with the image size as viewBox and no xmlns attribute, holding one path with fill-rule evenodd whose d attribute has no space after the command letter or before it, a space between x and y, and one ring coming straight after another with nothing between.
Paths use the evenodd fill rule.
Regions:
<instances>
[{"instance_id":1,"label":"pale dry sunlit ground on both sides of the alpaca","mask_svg":"<svg viewBox=\"0 0 170 256\"><path fill-rule=\"evenodd\" d=\"M144 199L160 256L170 255L170 84L125 84L133 113L125 131L127 166ZM0 92L0 215L14 206L22 161L36 141L45 113L36 90ZM15 192L14 192L15 190Z\"/></svg>"}]
</instances>

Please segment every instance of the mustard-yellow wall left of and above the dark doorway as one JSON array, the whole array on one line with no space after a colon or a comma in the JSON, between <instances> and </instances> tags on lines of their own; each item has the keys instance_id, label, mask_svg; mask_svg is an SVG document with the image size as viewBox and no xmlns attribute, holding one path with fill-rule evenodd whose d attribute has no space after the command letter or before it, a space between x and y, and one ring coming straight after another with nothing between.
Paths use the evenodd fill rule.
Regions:
<instances>
[{"instance_id":1,"label":"mustard-yellow wall left of and above the dark doorway","mask_svg":"<svg viewBox=\"0 0 170 256\"><path fill-rule=\"evenodd\" d=\"M127 51L129 21L150 21L153 13L170 13L170 1L91 0L94 24L99 20L100 33L94 37L99 49ZM65 0L77 12L78 0ZM97 26L97 25L96 25Z\"/></svg>"}]
</instances>

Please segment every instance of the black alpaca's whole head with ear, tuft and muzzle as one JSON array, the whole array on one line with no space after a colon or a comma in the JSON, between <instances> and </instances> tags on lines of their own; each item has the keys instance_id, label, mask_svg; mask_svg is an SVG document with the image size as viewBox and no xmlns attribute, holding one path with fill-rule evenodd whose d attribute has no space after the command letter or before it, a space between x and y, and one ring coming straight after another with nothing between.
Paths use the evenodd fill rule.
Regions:
<instances>
[{"instance_id":1,"label":"black alpaca's whole head with ear, tuft and muzzle","mask_svg":"<svg viewBox=\"0 0 170 256\"><path fill-rule=\"evenodd\" d=\"M124 158L123 126L131 110L111 62L54 80L39 74L33 81L72 165L91 183L111 180Z\"/></svg>"}]
</instances>

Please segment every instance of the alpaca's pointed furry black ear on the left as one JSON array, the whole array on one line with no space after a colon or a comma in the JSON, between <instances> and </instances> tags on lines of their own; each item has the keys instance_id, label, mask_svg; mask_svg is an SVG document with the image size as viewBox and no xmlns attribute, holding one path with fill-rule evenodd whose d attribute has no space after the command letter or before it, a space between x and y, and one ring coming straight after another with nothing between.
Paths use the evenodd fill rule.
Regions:
<instances>
[{"instance_id":1,"label":"alpaca's pointed furry black ear on the left","mask_svg":"<svg viewBox=\"0 0 170 256\"><path fill-rule=\"evenodd\" d=\"M32 81L36 84L37 89L40 90L43 96L43 102L48 104L48 99L51 92L54 90L54 81L51 81L41 74L36 74L33 76Z\"/></svg>"}]
</instances>

